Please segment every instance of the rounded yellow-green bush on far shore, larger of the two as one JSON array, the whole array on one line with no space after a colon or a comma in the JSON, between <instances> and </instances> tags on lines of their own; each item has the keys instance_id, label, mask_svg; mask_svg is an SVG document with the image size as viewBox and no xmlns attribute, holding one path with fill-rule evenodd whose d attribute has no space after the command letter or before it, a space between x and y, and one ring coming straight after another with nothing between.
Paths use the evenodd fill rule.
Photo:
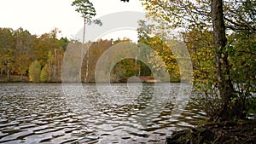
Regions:
<instances>
[{"instance_id":1,"label":"rounded yellow-green bush on far shore, larger of the two","mask_svg":"<svg viewBox=\"0 0 256 144\"><path fill-rule=\"evenodd\" d=\"M29 80L33 83L39 83L41 76L41 66L38 60L32 62L29 67Z\"/></svg>"}]
</instances>

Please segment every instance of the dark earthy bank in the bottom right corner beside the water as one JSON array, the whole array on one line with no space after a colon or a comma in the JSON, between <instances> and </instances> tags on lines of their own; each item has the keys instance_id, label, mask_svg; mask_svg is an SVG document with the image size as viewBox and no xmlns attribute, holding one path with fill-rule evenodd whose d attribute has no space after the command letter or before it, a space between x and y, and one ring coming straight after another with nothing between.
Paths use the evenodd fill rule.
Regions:
<instances>
[{"instance_id":1,"label":"dark earthy bank in the bottom right corner beside the water","mask_svg":"<svg viewBox=\"0 0 256 144\"><path fill-rule=\"evenodd\" d=\"M256 119L202 124L189 130L174 131L166 144L255 144Z\"/></svg>"}]
</instances>

